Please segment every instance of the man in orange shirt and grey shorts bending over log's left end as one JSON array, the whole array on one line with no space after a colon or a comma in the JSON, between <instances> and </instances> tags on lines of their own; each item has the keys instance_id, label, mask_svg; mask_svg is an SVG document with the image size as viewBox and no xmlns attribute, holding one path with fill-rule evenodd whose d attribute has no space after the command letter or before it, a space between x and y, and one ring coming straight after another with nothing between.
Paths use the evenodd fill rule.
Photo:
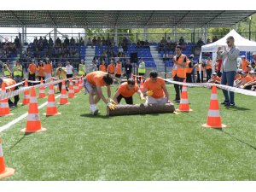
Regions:
<instances>
[{"instance_id":1,"label":"man in orange shirt and grey shorts bending over log's left end","mask_svg":"<svg viewBox=\"0 0 256 192\"><path fill-rule=\"evenodd\" d=\"M106 99L102 94L102 87L107 86L108 89L108 98L111 96L110 85L113 84L113 78L110 74L96 71L88 73L84 79L84 88L85 91L89 94L90 102L90 112L96 115L98 109L96 108L96 103L101 99L105 102L110 109L115 109L114 103L110 99Z\"/></svg>"}]
</instances>

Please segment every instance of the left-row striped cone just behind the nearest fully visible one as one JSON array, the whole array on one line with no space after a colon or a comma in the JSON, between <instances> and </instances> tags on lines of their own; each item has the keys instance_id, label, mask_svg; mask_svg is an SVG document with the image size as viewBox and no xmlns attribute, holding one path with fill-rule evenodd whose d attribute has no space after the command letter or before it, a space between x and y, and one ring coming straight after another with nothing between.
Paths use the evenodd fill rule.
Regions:
<instances>
[{"instance_id":1,"label":"left-row striped cone just behind the nearest fully visible one","mask_svg":"<svg viewBox=\"0 0 256 192\"><path fill-rule=\"evenodd\" d=\"M55 105L55 93L54 93L54 85L49 85L49 92L48 92L48 103L46 108L46 113L44 115L46 116L54 116L61 113L58 113L57 107Z\"/></svg>"}]
</instances>

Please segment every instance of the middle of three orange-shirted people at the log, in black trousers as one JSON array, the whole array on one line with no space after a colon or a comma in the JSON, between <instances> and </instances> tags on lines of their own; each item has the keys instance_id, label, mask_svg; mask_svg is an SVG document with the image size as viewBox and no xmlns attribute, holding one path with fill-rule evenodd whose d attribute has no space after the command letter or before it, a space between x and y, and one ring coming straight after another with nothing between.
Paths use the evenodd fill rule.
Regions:
<instances>
[{"instance_id":1,"label":"middle of three orange-shirted people at the log, in black trousers","mask_svg":"<svg viewBox=\"0 0 256 192\"><path fill-rule=\"evenodd\" d=\"M113 102L119 103L122 98L125 99L126 104L133 105L132 96L137 92L141 100L145 100L142 91L138 85L135 84L134 79L128 79L127 82L120 84L119 89L113 96Z\"/></svg>"}]
</instances>

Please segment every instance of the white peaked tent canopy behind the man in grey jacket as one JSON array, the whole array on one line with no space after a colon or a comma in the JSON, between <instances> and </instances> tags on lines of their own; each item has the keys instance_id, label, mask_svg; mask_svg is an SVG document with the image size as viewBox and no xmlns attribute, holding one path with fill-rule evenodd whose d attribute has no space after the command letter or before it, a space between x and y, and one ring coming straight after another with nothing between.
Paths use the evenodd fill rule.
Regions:
<instances>
[{"instance_id":1,"label":"white peaked tent canopy behind the man in grey jacket","mask_svg":"<svg viewBox=\"0 0 256 192\"><path fill-rule=\"evenodd\" d=\"M212 44L201 46L201 52L216 52L218 47L226 46L226 40L229 36L235 38L235 45L240 51L256 51L256 42L250 41L247 38L242 38L234 29L224 36L224 38Z\"/></svg>"}]
</instances>

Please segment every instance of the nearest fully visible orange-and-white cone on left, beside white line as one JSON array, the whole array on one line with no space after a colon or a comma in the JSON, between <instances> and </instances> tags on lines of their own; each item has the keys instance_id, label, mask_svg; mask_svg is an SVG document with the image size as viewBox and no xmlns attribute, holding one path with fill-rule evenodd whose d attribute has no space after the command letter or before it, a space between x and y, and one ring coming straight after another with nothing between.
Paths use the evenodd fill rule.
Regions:
<instances>
[{"instance_id":1,"label":"nearest fully visible orange-and-white cone on left, beside white line","mask_svg":"<svg viewBox=\"0 0 256 192\"><path fill-rule=\"evenodd\" d=\"M30 94L26 128L20 131L25 133L46 131L45 128L41 127L41 121L38 114L38 100L34 87L32 87Z\"/></svg>"}]
</instances>

